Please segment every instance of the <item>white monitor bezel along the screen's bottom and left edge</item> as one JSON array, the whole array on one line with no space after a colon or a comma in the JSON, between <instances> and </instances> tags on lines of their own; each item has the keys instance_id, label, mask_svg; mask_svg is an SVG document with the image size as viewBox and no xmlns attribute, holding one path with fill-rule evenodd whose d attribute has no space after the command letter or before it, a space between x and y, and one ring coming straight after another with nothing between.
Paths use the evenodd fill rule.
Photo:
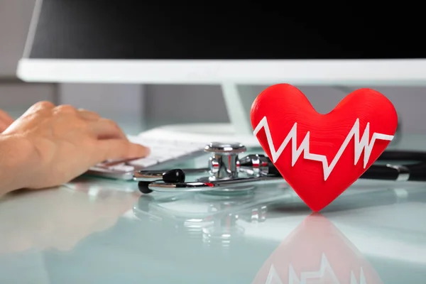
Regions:
<instances>
[{"instance_id":1,"label":"white monitor bezel along the screen's bottom and left edge","mask_svg":"<svg viewBox=\"0 0 426 284\"><path fill-rule=\"evenodd\" d=\"M25 82L129 84L423 85L426 58L395 60L65 60L33 59L43 0L37 0L16 75Z\"/></svg>"}]
</instances>

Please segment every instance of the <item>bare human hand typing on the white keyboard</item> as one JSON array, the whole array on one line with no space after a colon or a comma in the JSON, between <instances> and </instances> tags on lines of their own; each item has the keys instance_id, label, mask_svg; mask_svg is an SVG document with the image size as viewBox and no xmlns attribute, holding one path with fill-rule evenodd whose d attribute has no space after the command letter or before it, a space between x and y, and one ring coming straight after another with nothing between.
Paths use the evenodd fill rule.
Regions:
<instances>
[{"instance_id":1,"label":"bare human hand typing on the white keyboard","mask_svg":"<svg viewBox=\"0 0 426 284\"><path fill-rule=\"evenodd\" d=\"M149 152L131 143L114 121L50 102L34 104L2 136L21 138L26 158L20 160L26 165L21 168L25 185L20 186L31 189L69 182L104 160L142 158Z\"/></svg>"}]
</instances>

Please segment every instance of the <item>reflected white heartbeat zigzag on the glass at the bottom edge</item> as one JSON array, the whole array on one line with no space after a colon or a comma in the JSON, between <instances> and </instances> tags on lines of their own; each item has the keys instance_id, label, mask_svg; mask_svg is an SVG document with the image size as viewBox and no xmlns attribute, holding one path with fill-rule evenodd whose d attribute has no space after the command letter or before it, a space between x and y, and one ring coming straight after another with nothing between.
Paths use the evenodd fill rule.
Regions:
<instances>
[{"instance_id":1,"label":"reflected white heartbeat zigzag on the glass at the bottom edge","mask_svg":"<svg viewBox=\"0 0 426 284\"><path fill-rule=\"evenodd\" d=\"M293 266L289 265L288 267L288 284L306 284L308 279L322 279L324 278L325 273L328 272L330 277L332 278L332 283L330 284L340 284L339 279L337 278L336 273L332 266L330 265L327 256L322 253L320 269L318 271L306 271L300 273L300 278L297 277L297 273L295 272ZM266 284L284 284L283 280L281 280L280 275L278 275L275 267L272 265L271 269L268 273L268 278L266 279ZM350 284L366 284L366 277L364 275L364 270L362 267L360 268L359 273L359 283L355 278L354 271L351 271L351 282Z\"/></svg>"}]
</instances>

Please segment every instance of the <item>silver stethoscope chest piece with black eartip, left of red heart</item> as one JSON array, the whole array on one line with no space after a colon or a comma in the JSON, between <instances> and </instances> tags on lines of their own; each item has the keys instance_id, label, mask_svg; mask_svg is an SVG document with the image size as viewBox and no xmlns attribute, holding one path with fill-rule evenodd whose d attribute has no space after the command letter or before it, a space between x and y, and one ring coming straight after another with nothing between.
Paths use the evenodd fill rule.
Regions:
<instances>
[{"instance_id":1,"label":"silver stethoscope chest piece with black eartip, left of red heart","mask_svg":"<svg viewBox=\"0 0 426 284\"><path fill-rule=\"evenodd\" d=\"M153 191L231 193L253 190L256 187L253 182L283 181L266 156L255 154L239 158L239 154L246 152L241 143L213 142L207 144L204 151L212 153L207 168L136 172L134 179L138 180L139 190L145 194ZM195 176L193 181L186 180L188 175Z\"/></svg>"}]
</instances>

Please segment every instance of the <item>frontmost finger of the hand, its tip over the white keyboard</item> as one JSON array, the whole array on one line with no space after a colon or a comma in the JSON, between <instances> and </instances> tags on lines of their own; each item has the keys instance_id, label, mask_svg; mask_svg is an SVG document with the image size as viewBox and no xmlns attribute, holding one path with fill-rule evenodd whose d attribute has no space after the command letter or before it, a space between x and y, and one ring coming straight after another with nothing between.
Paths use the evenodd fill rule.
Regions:
<instances>
[{"instance_id":1,"label":"frontmost finger of the hand, its tip over the white keyboard","mask_svg":"<svg viewBox=\"0 0 426 284\"><path fill-rule=\"evenodd\" d=\"M95 163L101 163L104 160L144 158L150 153L148 147L124 139L99 140L97 145L99 155Z\"/></svg>"}]
</instances>

